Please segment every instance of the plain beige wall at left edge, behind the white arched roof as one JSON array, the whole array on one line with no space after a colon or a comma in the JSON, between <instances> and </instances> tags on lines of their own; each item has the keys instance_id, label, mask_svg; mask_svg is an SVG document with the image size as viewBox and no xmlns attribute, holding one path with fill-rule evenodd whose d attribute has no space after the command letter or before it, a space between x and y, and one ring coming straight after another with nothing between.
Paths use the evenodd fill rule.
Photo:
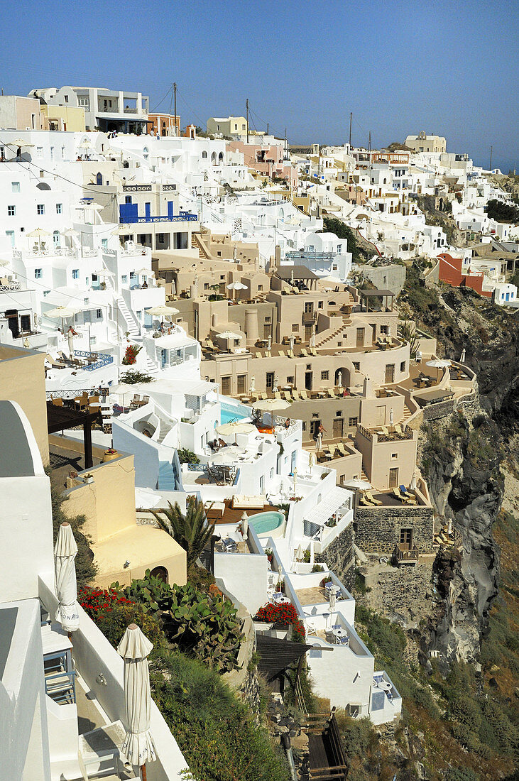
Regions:
<instances>
[{"instance_id":1,"label":"plain beige wall at left edge, behind the white arched roof","mask_svg":"<svg viewBox=\"0 0 519 781\"><path fill-rule=\"evenodd\" d=\"M44 466L48 466L44 354L0 344L0 399L16 401L34 431Z\"/></svg>"}]
</instances>

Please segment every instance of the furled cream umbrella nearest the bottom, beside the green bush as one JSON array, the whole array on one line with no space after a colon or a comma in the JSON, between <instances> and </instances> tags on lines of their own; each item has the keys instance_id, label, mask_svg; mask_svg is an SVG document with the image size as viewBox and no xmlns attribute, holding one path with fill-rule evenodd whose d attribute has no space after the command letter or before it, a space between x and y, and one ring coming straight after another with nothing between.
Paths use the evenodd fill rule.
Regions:
<instances>
[{"instance_id":1,"label":"furled cream umbrella nearest the bottom, beside the green bush","mask_svg":"<svg viewBox=\"0 0 519 781\"><path fill-rule=\"evenodd\" d=\"M117 646L124 660L124 704L126 709L126 736L121 754L130 765L139 765L146 779L146 762L154 762L155 744L150 733L150 672L148 655L150 643L137 624L130 624Z\"/></svg>"}]
</instances>

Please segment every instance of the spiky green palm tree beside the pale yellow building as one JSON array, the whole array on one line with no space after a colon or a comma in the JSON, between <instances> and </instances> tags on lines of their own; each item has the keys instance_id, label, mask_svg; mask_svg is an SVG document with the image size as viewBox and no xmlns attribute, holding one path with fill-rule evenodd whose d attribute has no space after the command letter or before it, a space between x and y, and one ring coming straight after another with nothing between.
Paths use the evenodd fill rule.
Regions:
<instances>
[{"instance_id":1,"label":"spiky green palm tree beside the pale yellow building","mask_svg":"<svg viewBox=\"0 0 519 781\"><path fill-rule=\"evenodd\" d=\"M171 534L174 540L186 551L187 569L196 561L211 540L215 529L215 521L208 521L205 517L204 505L195 496L187 497L186 515L180 510L178 502L175 506L168 502L169 510L163 510L162 518L158 512L152 510L153 515L165 532Z\"/></svg>"}]
</instances>

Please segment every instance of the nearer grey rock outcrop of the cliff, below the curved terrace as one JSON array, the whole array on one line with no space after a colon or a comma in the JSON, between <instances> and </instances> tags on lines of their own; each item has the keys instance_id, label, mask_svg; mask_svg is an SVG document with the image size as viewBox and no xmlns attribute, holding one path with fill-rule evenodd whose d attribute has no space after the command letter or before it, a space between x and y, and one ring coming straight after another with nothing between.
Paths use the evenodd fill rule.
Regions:
<instances>
[{"instance_id":1,"label":"nearer grey rock outcrop of the cliff, below the curved terrace","mask_svg":"<svg viewBox=\"0 0 519 781\"><path fill-rule=\"evenodd\" d=\"M443 448L428 454L432 501L460 539L460 550L443 549L433 566L442 601L428 622L423 650L438 651L444 665L454 659L477 661L499 583L499 551L492 539L503 497L499 458L492 449L482 463L488 448L478 458L474 452L478 438L489 436L490 425L465 426L457 437L446 428Z\"/></svg>"}]
</instances>

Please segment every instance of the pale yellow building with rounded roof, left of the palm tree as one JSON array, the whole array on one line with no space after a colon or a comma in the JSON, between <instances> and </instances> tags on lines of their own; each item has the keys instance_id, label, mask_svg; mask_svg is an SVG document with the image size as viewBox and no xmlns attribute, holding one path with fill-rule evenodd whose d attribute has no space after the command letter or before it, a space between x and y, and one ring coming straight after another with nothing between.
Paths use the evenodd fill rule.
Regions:
<instances>
[{"instance_id":1,"label":"pale yellow building with rounded roof, left of the palm tree","mask_svg":"<svg viewBox=\"0 0 519 781\"><path fill-rule=\"evenodd\" d=\"M69 478L66 515L85 515L83 532L91 537L96 584L128 585L147 569L167 583L187 583L186 551L168 533L148 522L137 522L133 455L118 455Z\"/></svg>"}]
</instances>

